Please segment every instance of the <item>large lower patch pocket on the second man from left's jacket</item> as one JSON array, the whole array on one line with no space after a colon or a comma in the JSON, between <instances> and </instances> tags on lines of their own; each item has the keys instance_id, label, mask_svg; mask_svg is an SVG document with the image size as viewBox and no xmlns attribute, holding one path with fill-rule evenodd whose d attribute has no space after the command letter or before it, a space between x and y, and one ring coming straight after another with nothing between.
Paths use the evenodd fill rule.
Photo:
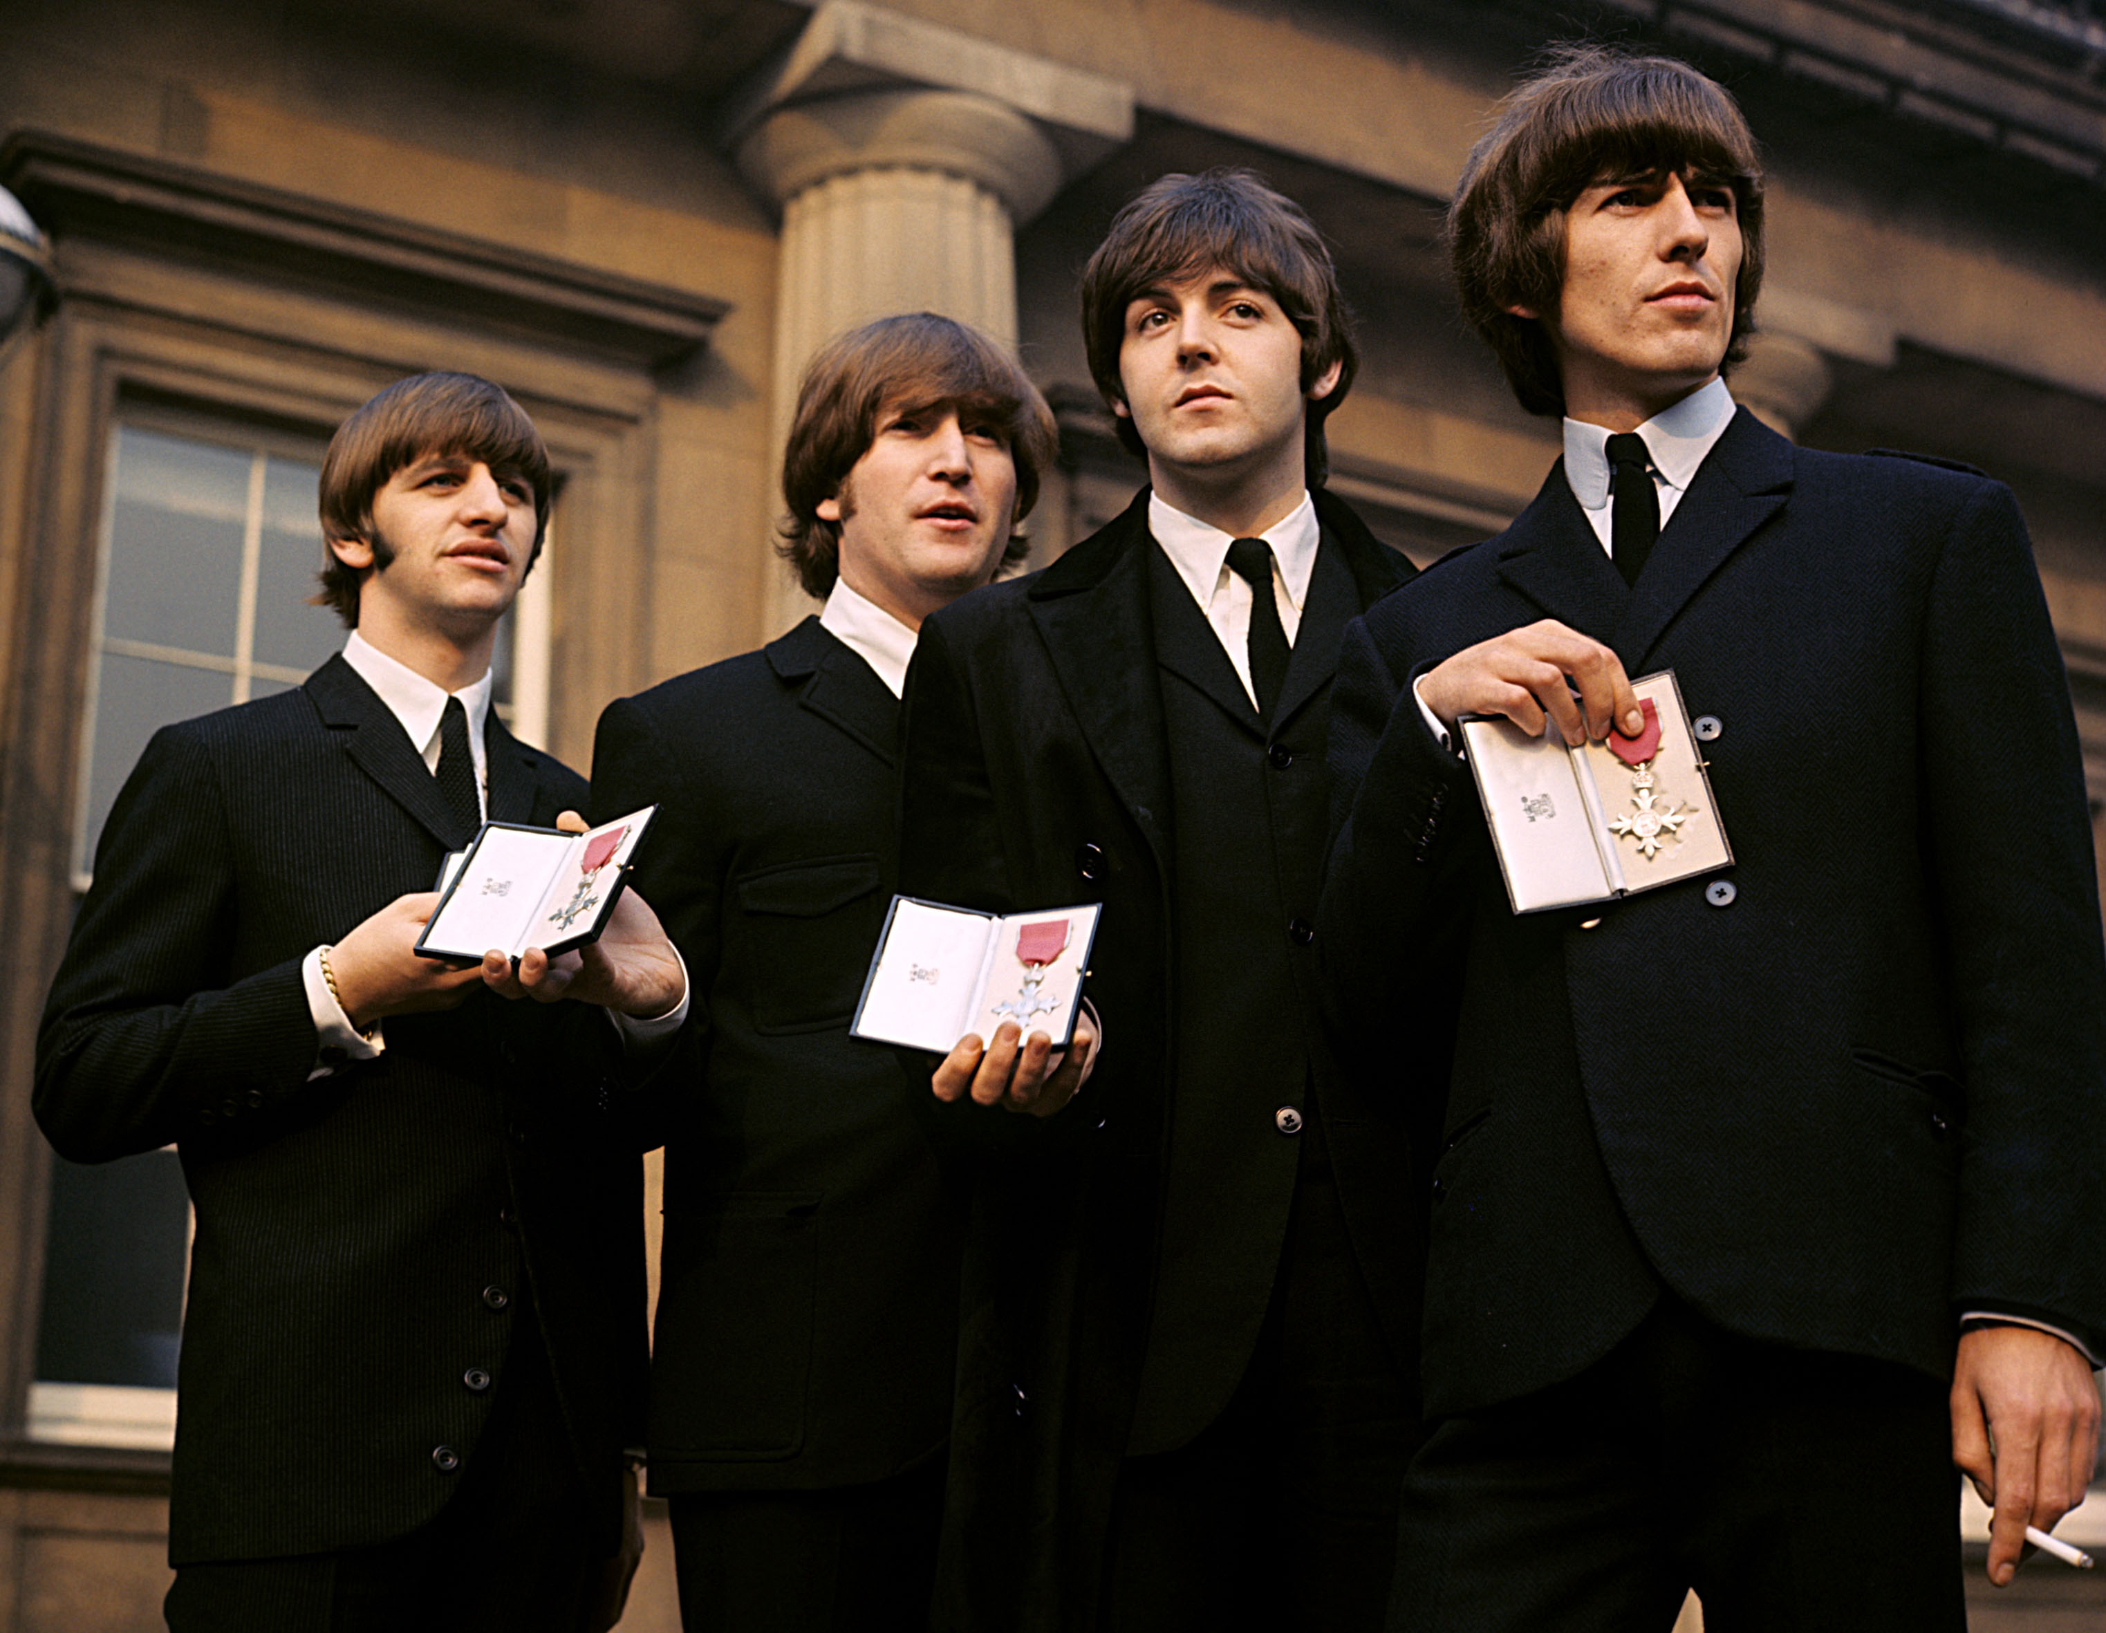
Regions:
<instances>
[{"instance_id":1,"label":"large lower patch pocket on the second man from left's jacket","mask_svg":"<svg viewBox=\"0 0 2106 1633\"><path fill-rule=\"evenodd\" d=\"M741 1191L665 1212L653 1458L771 1462L802 1450L819 1201Z\"/></svg>"}]
</instances>

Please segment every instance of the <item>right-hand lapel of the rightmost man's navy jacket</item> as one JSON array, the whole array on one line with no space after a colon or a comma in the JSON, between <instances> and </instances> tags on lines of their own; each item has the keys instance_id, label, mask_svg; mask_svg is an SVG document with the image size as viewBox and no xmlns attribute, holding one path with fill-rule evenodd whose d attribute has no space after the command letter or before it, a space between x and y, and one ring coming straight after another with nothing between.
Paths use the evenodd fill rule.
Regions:
<instances>
[{"instance_id":1,"label":"right-hand lapel of the rightmost man's navy jacket","mask_svg":"<svg viewBox=\"0 0 2106 1633\"><path fill-rule=\"evenodd\" d=\"M1613 626L1609 645L1630 674L1643 672L1674 615L1727 556L1784 508L1790 491L1792 445L1740 409L1697 466Z\"/></svg>"}]
</instances>

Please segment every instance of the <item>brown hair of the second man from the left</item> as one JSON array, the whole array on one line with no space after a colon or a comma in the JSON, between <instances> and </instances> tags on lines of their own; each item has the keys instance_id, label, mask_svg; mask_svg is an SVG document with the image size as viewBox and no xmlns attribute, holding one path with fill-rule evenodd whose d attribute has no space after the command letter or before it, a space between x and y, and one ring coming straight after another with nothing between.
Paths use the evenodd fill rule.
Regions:
<instances>
[{"instance_id":1,"label":"brown hair of the second man from the left","mask_svg":"<svg viewBox=\"0 0 2106 1633\"><path fill-rule=\"evenodd\" d=\"M866 322L830 339L804 367L783 447L790 514L777 527L775 552L796 569L804 594L823 598L840 575L840 523L823 520L819 504L840 493L855 461L870 451L878 415L939 407L973 409L994 421L1017 466L1011 525L1032 514L1059 432L1024 365L977 329L935 312ZM1002 567L1028 552L1030 539L1011 533Z\"/></svg>"}]
</instances>

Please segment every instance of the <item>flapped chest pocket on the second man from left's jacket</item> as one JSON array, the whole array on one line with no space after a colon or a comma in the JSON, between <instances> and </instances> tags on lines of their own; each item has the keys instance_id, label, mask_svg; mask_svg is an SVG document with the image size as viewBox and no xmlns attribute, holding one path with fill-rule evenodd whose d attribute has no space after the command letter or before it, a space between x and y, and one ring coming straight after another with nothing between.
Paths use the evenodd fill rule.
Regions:
<instances>
[{"instance_id":1,"label":"flapped chest pocket on the second man from left's jacket","mask_svg":"<svg viewBox=\"0 0 2106 1633\"><path fill-rule=\"evenodd\" d=\"M876 855L790 862L733 881L756 1032L815 1032L855 1014L876 952ZM731 961L727 961L731 963Z\"/></svg>"}]
</instances>

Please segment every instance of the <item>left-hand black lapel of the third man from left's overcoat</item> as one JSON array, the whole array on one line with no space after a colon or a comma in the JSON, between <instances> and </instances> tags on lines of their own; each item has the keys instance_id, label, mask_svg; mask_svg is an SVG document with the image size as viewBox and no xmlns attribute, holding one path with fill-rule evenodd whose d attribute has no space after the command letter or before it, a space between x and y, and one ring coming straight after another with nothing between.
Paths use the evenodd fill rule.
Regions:
<instances>
[{"instance_id":1,"label":"left-hand black lapel of the third man from left's overcoat","mask_svg":"<svg viewBox=\"0 0 2106 1633\"><path fill-rule=\"evenodd\" d=\"M1169 813L1169 744L1148 628L1148 489L1112 525L1047 567L1026 594L1082 740L1141 822L1158 866ZM1224 657L1224 662L1228 662ZM1146 815L1141 815L1146 813Z\"/></svg>"}]
</instances>

